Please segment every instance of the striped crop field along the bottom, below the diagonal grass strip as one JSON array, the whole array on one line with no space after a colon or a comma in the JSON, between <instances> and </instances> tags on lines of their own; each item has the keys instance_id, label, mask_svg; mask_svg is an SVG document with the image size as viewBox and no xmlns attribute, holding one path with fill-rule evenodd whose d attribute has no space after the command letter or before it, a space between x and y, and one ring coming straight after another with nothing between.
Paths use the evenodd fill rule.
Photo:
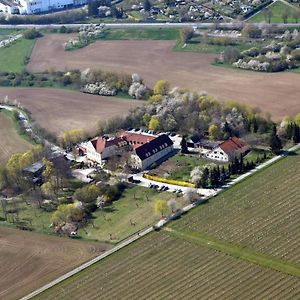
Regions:
<instances>
[{"instance_id":1,"label":"striped crop field along the bottom, below the diagonal grass strip","mask_svg":"<svg viewBox=\"0 0 300 300\"><path fill-rule=\"evenodd\" d=\"M296 299L299 279L159 232L36 299Z\"/></svg>"}]
</instances>

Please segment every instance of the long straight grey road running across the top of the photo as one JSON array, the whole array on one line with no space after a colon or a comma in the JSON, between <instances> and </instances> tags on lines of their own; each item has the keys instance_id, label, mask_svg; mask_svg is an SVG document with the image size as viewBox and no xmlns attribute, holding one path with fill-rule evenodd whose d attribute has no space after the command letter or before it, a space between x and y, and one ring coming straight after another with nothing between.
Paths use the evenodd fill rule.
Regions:
<instances>
[{"instance_id":1,"label":"long straight grey road running across the top of the photo","mask_svg":"<svg viewBox=\"0 0 300 300\"><path fill-rule=\"evenodd\" d=\"M181 28L181 27L197 27L199 29L211 29L215 28L214 23L104 23L105 27L107 28ZM219 23L218 26L222 29L235 29L238 27L239 24L243 24L243 22L231 22L231 23ZM252 23L259 27L262 26L274 26L274 24L267 24L267 23ZM20 24L20 25L0 25L0 28L60 28L61 26L66 27L80 27L86 26L88 24ZM288 27L299 27L300 23L290 23L290 24L283 24L277 23L277 27L280 28L288 28Z\"/></svg>"}]
</instances>

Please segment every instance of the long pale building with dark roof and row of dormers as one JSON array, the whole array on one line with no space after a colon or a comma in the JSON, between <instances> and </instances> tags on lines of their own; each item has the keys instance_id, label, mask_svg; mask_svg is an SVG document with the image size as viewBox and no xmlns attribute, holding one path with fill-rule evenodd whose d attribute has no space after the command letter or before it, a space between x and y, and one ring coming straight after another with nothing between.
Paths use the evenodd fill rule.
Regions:
<instances>
[{"instance_id":1,"label":"long pale building with dark roof and row of dormers","mask_svg":"<svg viewBox=\"0 0 300 300\"><path fill-rule=\"evenodd\" d=\"M136 170L145 170L173 151L173 142L166 134L135 148L130 157L130 165Z\"/></svg>"}]
</instances>

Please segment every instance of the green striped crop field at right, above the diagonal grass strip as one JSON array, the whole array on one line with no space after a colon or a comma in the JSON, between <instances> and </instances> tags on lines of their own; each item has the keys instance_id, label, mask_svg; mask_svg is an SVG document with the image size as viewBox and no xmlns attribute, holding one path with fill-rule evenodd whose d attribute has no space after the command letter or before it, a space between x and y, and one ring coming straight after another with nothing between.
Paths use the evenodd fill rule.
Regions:
<instances>
[{"instance_id":1,"label":"green striped crop field at right, above the diagonal grass strip","mask_svg":"<svg viewBox=\"0 0 300 300\"><path fill-rule=\"evenodd\" d=\"M300 154L221 193L174 223L300 265Z\"/></svg>"}]
</instances>

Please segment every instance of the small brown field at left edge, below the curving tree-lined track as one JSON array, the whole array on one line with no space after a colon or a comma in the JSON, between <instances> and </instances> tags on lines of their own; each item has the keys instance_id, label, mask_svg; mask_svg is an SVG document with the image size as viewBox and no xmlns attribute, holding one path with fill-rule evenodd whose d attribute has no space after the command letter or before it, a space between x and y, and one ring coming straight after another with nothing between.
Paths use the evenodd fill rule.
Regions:
<instances>
[{"instance_id":1,"label":"small brown field at left edge, below the curving tree-lined track","mask_svg":"<svg viewBox=\"0 0 300 300\"><path fill-rule=\"evenodd\" d=\"M5 164L12 154L25 152L30 147L19 136L13 122L0 112L0 165Z\"/></svg>"}]
</instances>

